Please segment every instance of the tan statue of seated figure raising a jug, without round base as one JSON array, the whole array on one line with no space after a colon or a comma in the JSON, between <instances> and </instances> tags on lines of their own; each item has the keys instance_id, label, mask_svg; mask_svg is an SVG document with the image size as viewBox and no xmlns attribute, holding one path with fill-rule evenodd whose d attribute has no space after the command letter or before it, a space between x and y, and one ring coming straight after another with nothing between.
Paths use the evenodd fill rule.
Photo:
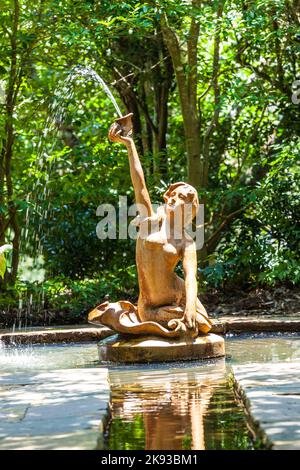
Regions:
<instances>
[{"instance_id":1,"label":"tan statue of seated figure raising a jug, without round base","mask_svg":"<svg viewBox=\"0 0 300 470\"><path fill-rule=\"evenodd\" d=\"M131 116L118 119L111 126L108 137L127 147L135 200L141 207L135 219L139 227L136 242L138 305L128 301L104 302L90 312L88 319L125 334L168 338L207 334L212 323L197 298L195 242L184 230L198 210L197 191L183 182L171 184L164 194L165 205L157 213L153 211L131 137ZM178 220L181 223L178 224ZM184 280L174 272L180 260Z\"/></svg>"}]
</instances>

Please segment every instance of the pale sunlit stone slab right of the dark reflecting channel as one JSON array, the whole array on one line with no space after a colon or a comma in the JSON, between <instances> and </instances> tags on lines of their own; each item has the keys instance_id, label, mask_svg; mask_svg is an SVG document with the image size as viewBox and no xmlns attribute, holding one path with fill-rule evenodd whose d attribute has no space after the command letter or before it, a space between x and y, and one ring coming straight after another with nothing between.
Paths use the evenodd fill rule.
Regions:
<instances>
[{"instance_id":1,"label":"pale sunlit stone slab right of the dark reflecting channel","mask_svg":"<svg viewBox=\"0 0 300 470\"><path fill-rule=\"evenodd\" d=\"M274 450L300 450L300 362L232 369L237 395L256 437Z\"/></svg>"}]
</instances>

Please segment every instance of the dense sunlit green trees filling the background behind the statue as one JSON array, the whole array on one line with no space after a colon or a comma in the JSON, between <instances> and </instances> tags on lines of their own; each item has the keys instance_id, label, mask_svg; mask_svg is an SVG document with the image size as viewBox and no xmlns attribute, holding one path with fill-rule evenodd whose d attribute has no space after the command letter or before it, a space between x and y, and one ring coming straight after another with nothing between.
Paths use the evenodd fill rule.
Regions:
<instances>
[{"instance_id":1,"label":"dense sunlit green trees filling the background behind the statue","mask_svg":"<svg viewBox=\"0 0 300 470\"><path fill-rule=\"evenodd\" d=\"M208 285L298 283L296 4L3 0L1 287L20 255L42 254L48 278L134 278L134 243L95 235L97 206L133 193L126 152L106 139L114 108L77 65L134 112L152 198L176 180L199 191Z\"/></svg>"}]
</instances>

